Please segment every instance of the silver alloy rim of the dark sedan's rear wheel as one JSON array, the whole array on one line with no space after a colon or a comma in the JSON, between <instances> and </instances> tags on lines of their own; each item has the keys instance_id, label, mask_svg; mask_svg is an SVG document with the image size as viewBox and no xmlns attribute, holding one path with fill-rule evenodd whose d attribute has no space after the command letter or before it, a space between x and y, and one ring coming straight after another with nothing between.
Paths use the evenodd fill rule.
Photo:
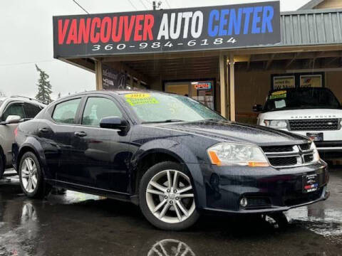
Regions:
<instances>
[{"instance_id":1,"label":"silver alloy rim of the dark sedan's rear wheel","mask_svg":"<svg viewBox=\"0 0 342 256\"><path fill-rule=\"evenodd\" d=\"M31 157L27 157L21 166L21 182L27 193L32 193L38 183L37 166Z\"/></svg>"}]
</instances>

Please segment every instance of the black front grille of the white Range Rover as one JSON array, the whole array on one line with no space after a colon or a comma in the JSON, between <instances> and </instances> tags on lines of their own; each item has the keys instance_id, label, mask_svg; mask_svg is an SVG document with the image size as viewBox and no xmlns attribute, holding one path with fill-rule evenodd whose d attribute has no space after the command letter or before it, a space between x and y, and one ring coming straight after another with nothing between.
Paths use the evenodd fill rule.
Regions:
<instances>
[{"instance_id":1,"label":"black front grille of the white Range Rover","mask_svg":"<svg viewBox=\"0 0 342 256\"><path fill-rule=\"evenodd\" d=\"M338 119L298 119L289 120L291 131L332 131L338 130Z\"/></svg>"}]
</instances>

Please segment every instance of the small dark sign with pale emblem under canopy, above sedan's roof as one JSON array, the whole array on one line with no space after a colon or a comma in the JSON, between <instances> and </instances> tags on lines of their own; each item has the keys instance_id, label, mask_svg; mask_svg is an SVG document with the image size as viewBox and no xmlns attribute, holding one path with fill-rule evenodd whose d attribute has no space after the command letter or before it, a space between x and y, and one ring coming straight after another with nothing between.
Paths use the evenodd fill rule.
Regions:
<instances>
[{"instance_id":1,"label":"small dark sign with pale emblem under canopy, above sedan's roof","mask_svg":"<svg viewBox=\"0 0 342 256\"><path fill-rule=\"evenodd\" d=\"M125 73L102 65L102 86L104 90L124 90L126 87Z\"/></svg>"}]
</instances>

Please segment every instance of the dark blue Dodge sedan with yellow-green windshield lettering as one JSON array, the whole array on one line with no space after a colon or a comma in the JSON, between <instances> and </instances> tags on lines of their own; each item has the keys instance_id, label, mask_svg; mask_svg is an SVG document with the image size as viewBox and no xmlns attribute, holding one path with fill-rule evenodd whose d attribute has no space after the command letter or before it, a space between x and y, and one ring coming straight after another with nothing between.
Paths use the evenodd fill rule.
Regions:
<instances>
[{"instance_id":1,"label":"dark blue Dodge sedan with yellow-green windshield lettering","mask_svg":"<svg viewBox=\"0 0 342 256\"><path fill-rule=\"evenodd\" d=\"M314 142L163 92L65 97L19 125L13 151L28 197L58 186L131 201L165 230L200 213L282 212L329 196Z\"/></svg>"}]
</instances>

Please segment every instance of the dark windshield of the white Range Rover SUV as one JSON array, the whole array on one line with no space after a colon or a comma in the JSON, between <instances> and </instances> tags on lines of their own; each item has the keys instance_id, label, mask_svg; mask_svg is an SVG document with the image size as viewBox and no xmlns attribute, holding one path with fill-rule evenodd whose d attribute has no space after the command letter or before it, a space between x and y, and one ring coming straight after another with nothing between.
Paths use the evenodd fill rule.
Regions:
<instances>
[{"instance_id":1,"label":"dark windshield of the white Range Rover SUV","mask_svg":"<svg viewBox=\"0 0 342 256\"><path fill-rule=\"evenodd\" d=\"M331 90L326 88L298 88L277 90L267 97L264 111L293 109L338 109L341 105Z\"/></svg>"}]
</instances>

